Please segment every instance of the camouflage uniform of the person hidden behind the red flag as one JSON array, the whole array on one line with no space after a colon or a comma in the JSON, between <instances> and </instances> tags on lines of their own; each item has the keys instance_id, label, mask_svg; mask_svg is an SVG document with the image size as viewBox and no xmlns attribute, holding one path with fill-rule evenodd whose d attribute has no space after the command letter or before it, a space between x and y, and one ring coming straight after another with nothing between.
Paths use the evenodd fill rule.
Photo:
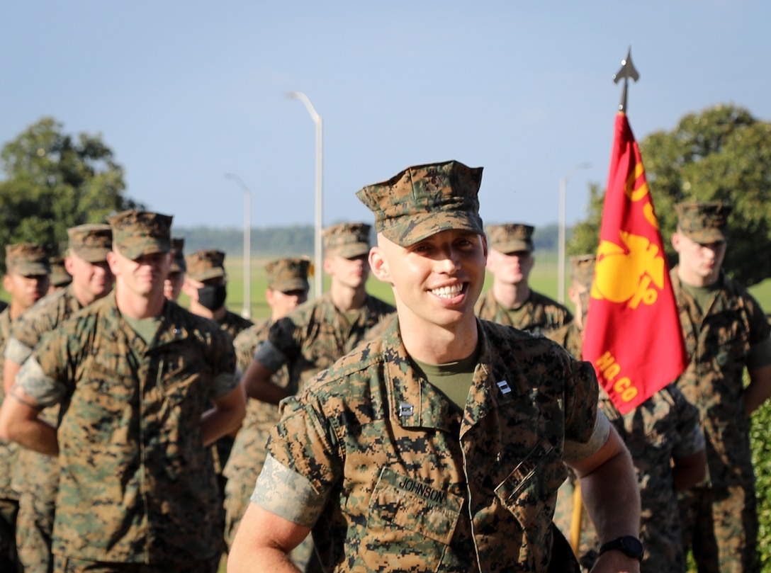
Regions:
<instances>
[{"instance_id":1,"label":"camouflage uniform of the person hidden behind the red flag","mask_svg":"<svg viewBox=\"0 0 771 573\"><path fill-rule=\"evenodd\" d=\"M581 330L574 322L554 333L552 339L564 344L574 357L581 358ZM674 384L658 391L624 416L619 414L602 388L599 404L635 464L641 499L640 538L645 545L642 573L685 571L672 458L688 457L704 449L699 410ZM566 536L571 529L573 491L574 480L566 481L560 488L554 514L554 522ZM579 560L587 571L594 565L599 546L594 524L584 511Z\"/></svg>"}]
</instances>

